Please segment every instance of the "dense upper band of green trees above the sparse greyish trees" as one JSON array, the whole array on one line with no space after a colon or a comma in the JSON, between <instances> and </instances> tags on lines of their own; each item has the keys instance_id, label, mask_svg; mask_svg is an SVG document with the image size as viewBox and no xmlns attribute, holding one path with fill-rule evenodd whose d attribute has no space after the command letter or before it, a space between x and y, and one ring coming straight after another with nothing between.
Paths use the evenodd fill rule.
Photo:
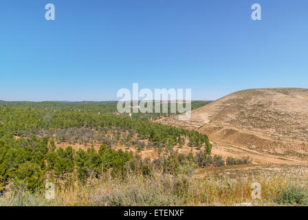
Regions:
<instances>
[{"instance_id":1,"label":"dense upper band of green trees above the sparse greyish trees","mask_svg":"<svg viewBox=\"0 0 308 220\"><path fill-rule=\"evenodd\" d=\"M56 133L57 129L89 128L96 131L120 128L124 131L135 131L142 139L154 144L174 146L184 144L188 137L190 146L201 147L206 144L207 151L212 147L208 136L197 131L179 129L143 120L132 120L129 117L99 115L96 113L74 111L52 111L40 109L17 109L0 107L0 123L20 137L38 135L42 130Z\"/></svg>"}]
</instances>

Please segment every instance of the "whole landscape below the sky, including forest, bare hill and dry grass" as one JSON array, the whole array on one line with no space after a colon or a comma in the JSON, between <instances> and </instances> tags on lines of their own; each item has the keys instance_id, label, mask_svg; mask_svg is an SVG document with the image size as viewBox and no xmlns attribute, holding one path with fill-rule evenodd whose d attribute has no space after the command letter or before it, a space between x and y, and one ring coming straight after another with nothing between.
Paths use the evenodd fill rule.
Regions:
<instances>
[{"instance_id":1,"label":"whole landscape below the sky, including forest, bare hill and dry grass","mask_svg":"<svg viewBox=\"0 0 308 220\"><path fill-rule=\"evenodd\" d=\"M307 100L308 89L250 89L193 101L188 121L120 115L115 102L0 102L0 205L18 193L25 206L33 195L43 206L292 205L281 195L305 196L308 183ZM46 182L58 199L43 198Z\"/></svg>"}]
</instances>

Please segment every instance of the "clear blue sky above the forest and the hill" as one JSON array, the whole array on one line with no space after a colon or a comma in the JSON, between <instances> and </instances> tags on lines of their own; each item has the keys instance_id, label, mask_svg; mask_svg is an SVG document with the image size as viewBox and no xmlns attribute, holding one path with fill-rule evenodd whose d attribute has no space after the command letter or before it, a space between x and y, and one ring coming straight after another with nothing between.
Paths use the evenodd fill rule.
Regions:
<instances>
[{"instance_id":1,"label":"clear blue sky above the forest and the hill","mask_svg":"<svg viewBox=\"0 0 308 220\"><path fill-rule=\"evenodd\" d=\"M118 100L132 83L191 88L194 100L307 87L307 9L307 0L1 0L0 100Z\"/></svg>"}]
</instances>

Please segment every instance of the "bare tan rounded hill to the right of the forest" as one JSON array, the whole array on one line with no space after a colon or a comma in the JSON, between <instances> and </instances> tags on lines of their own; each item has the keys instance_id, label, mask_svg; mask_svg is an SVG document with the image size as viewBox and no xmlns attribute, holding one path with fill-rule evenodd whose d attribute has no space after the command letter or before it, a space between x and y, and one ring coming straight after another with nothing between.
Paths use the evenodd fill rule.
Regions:
<instances>
[{"instance_id":1,"label":"bare tan rounded hill to the right of the forest","mask_svg":"<svg viewBox=\"0 0 308 220\"><path fill-rule=\"evenodd\" d=\"M308 89L237 91L192 111L159 120L206 133L210 140L271 155L307 160Z\"/></svg>"}]
</instances>

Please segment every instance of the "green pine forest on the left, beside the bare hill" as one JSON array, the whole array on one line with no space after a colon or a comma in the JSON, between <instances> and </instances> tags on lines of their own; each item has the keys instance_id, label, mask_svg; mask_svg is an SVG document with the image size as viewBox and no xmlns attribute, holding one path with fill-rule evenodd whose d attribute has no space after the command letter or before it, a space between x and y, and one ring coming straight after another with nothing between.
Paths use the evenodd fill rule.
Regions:
<instances>
[{"instance_id":1,"label":"green pine forest on the left, beside the bare hill","mask_svg":"<svg viewBox=\"0 0 308 220\"><path fill-rule=\"evenodd\" d=\"M104 172L124 177L127 172L151 175L153 169L161 168L164 172L176 173L182 166L195 166L197 161L202 166L203 161L211 159L207 157L212 148L208 137L197 131L178 129L144 118L120 117L111 111L98 114L90 107L87 110L87 104L83 111L76 111L83 104L58 103L54 107L50 102L41 102L41 106L29 102L10 104L14 107L0 107L1 192L10 184L24 184L29 190L39 190L46 179L66 178L70 174L86 182L89 177L99 177ZM111 106L108 108L112 109ZM96 107L100 108L98 104ZM148 144L142 140L148 140ZM87 151L74 151L71 146L56 148L60 142L86 144ZM139 151L153 147L159 151L167 149L169 153L151 162L131 151L111 148L119 142L135 146ZM98 143L100 148L97 151L94 144ZM173 152L173 146L185 143L191 147L203 147L203 151L195 157L191 153L180 155ZM212 159L219 161L219 157Z\"/></svg>"}]
</instances>

